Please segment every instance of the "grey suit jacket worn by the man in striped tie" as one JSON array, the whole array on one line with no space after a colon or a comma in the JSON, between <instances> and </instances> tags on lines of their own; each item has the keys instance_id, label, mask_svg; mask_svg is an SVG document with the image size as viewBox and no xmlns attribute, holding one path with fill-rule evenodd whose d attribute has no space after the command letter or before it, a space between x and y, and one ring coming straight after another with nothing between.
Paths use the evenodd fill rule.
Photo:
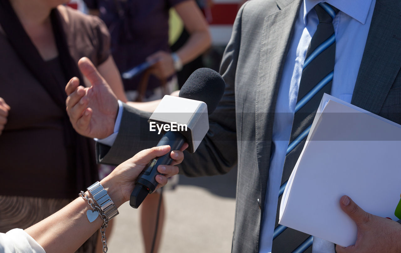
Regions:
<instances>
[{"instance_id":1,"label":"grey suit jacket worn by the man in striped tie","mask_svg":"<svg viewBox=\"0 0 401 253\"><path fill-rule=\"evenodd\" d=\"M278 86L300 0L252 0L237 14L221 74L225 94L210 116L210 130L181 173L215 175L238 166L233 248L256 253L269 173ZM401 123L401 4L377 0L352 103ZM160 137L148 131L149 114L124 106L111 149L97 145L98 158L117 164ZM153 132L152 132L153 133ZM152 141L152 139L154 141Z\"/></svg>"}]
</instances>

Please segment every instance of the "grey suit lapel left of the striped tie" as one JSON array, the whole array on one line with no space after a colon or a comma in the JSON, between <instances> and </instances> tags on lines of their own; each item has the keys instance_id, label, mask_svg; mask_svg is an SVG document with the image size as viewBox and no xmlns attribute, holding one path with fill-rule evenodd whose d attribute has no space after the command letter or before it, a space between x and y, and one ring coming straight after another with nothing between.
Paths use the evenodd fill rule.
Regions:
<instances>
[{"instance_id":1,"label":"grey suit lapel left of the striped tie","mask_svg":"<svg viewBox=\"0 0 401 253\"><path fill-rule=\"evenodd\" d=\"M289 4L287 2L289 1L277 1L280 10L267 16L263 24L255 101L256 152L261 178L262 203L265 199L269 173L273 112L294 23L300 7L300 1L292 1Z\"/></svg>"}]
</instances>

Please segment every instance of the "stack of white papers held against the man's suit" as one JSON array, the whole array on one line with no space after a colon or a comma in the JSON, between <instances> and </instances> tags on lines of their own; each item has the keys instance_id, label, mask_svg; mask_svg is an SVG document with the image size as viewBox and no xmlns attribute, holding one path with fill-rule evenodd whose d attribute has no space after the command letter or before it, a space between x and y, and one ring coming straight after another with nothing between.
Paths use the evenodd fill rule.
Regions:
<instances>
[{"instance_id":1,"label":"stack of white papers held against the man's suit","mask_svg":"<svg viewBox=\"0 0 401 253\"><path fill-rule=\"evenodd\" d=\"M325 94L284 191L279 223L349 246L356 224L342 195L365 211L398 220L401 126Z\"/></svg>"}]
</instances>

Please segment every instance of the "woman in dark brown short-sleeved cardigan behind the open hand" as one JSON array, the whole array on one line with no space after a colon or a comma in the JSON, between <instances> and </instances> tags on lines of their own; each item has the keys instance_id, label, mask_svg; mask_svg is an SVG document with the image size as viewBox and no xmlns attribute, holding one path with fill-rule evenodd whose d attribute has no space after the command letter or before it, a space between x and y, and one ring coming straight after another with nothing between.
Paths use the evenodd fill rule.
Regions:
<instances>
[{"instance_id":1,"label":"woman in dark brown short-sleeved cardigan behind the open hand","mask_svg":"<svg viewBox=\"0 0 401 253\"><path fill-rule=\"evenodd\" d=\"M65 83L83 81L78 60L89 57L126 100L107 27L66 2L0 0L0 232L30 227L98 179L93 140L65 111Z\"/></svg>"}]
</instances>

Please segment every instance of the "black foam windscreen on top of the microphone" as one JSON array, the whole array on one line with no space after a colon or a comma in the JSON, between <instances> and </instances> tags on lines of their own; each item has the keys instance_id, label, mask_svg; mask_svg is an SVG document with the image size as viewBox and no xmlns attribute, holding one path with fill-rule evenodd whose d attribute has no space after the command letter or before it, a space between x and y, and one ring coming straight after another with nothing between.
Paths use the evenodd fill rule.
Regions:
<instances>
[{"instance_id":1,"label":"black foam windscreen on top of the microphone","mask_svg":"<svg viewBox=\"0 0 401 253\"><path fill-rule=\"evenodd\" d=\"M225 82L223 77L210 68L198 68L186 80L178 95L205 102L207 112L211 114L223 96Z\"/></svg>"}]
</instances>

